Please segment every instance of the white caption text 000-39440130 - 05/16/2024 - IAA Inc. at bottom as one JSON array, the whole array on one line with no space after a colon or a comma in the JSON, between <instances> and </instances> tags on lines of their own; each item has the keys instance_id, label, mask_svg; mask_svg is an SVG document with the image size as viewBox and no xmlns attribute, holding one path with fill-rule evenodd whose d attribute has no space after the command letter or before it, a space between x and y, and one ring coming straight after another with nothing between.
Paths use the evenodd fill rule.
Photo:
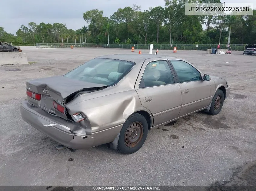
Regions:
<instances>
[{"instance_id":1,"label":"white caption text 000-39440130 - 05/16/2024 - IAA Inc. at bottom","mask_svg":"<svg viewBox=\"0 0 256 191\"><path fill-rule=\"evenodd\" d=\"M93 186L93 190L160 190L157 186Z\"/></svg>"}]
</instances>

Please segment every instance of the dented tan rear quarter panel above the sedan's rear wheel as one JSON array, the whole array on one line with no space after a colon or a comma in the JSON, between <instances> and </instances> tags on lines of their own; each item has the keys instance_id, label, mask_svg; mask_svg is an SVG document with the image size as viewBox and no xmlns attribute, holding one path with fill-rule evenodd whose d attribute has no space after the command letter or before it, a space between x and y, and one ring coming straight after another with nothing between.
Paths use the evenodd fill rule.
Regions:
<instances>
[{"instance_id":1,"label":"dented tan rear quarter panel above the sedan's rear wheel","mask_svg":"<svg viewBox=\"0 0 256 191\"><path fill-rule=\"evenodd\" d=\"M91 124L91 132L99 132L125 123L136 111L144 110L135 90L123 91L76 104L66 104L70 114L84 113Z\"/></svg>"}]
</instances>

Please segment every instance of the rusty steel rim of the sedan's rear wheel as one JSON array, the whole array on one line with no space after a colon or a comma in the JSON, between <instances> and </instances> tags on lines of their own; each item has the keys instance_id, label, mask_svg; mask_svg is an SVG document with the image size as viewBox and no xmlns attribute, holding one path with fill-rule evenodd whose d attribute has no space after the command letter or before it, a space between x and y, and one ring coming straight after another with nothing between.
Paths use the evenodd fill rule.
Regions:
<instances>
[{"instance_id":1,"label":"rusty steel rim of the sedan's rear wheel","mask_svg":"<svg viewBox=\"0 0 256 191\"><path fill-rule=\"evenodd\" d=\"M131 123L125 131L125 145L133 148L138 145L143 136L143 126L140 122Z\"/></svg>"}]
</instances>

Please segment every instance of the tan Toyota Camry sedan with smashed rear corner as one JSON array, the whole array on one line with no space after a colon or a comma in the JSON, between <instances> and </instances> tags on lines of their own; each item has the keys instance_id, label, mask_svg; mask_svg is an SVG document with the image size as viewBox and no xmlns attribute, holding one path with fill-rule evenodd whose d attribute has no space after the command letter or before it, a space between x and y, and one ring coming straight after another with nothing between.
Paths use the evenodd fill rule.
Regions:
<instances>
[{"instance_id":1,"label":"tan Toyota Camry sedan with smashed rear corner","mask_svg":"<svg viewBox=\"0 0 256 191\"><path fill-rule=\"evenodd\" d=\"M108 144L131 154L153 128L201 110L218 114L229 92L226 80L185 59L108 55L65 75L27 81L21 115L58 150Z\"/></svg>"}]
</instances>

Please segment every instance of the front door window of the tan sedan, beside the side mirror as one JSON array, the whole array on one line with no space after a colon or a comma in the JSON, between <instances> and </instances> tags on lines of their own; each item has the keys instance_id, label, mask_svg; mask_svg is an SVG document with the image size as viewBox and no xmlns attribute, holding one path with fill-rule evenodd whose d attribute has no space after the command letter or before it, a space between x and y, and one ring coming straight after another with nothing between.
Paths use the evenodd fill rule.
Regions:
<instances>
[{"instance_id":1,"label":"front door window of the tan sedan, beside the side mirror","mask_svg":"<svg viewBox=\"0 0 256 191\"><path fill-rule=\"evenodd\" d=\"M202 80L200 72L187 62L181 60L170 60L177 75L180 83L188 81L199 81Z\"/></svg>"}]
</instances>

